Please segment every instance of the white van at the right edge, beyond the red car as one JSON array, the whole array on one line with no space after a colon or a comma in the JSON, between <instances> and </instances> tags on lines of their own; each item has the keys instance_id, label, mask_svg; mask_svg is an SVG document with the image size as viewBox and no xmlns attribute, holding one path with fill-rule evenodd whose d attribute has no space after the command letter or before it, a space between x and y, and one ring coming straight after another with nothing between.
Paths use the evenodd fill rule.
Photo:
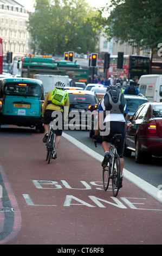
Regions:
<instances>
[{"instance_id":1,"label":"white van at the right edge, beyond the red car","mask_svg":"<svg viewBox=\"0 0 162 256\"><path fill-rule=\"evenodd\" d=\"M162 75L144 75L139 81L139 91L150 102L162 102Z\"/></svg>"}]
</instances>

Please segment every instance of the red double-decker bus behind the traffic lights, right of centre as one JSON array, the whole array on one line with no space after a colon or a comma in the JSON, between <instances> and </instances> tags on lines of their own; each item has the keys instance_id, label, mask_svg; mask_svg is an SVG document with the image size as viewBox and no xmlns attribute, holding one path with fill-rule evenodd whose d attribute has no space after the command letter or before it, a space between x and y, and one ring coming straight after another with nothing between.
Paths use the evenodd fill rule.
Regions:
<instances>
[{"instance_id":1,"label":"red double-decker bus behind the traffic lights, right of centre","mask_svg":"<svg viewBox=\"0 0 162 256\"><path fill-rule=\"evenodd\" d=\"M110 56L107 77L110 75L120 76L122 79L133 79L135 76L151 74L150 58L140 55L124 55L123 68L117 69L118 55Z\"/></svg>"}]
</instances>

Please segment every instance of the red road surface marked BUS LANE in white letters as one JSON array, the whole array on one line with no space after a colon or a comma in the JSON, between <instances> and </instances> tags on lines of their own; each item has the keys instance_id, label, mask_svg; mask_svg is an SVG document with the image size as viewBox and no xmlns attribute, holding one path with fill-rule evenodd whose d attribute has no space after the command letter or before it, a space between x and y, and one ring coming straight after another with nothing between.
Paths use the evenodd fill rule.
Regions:
<instances>
[{"instance_id":1,"label":"red road surface marked BUS LANE in white letters","mask_svg":"<svg viewBox=\"0 0 162 256\"><path fill-rule=\"evenodd\" d=\"M102 156L99 161L95 151L87 154L64 133L57 159L48 164L42 134L26 131L0 133L0 244L60 249L161 244L161 193L156 188L152 196L130 176L115 198L111 187L103 190Z\"/></svg>"}]
</instances>

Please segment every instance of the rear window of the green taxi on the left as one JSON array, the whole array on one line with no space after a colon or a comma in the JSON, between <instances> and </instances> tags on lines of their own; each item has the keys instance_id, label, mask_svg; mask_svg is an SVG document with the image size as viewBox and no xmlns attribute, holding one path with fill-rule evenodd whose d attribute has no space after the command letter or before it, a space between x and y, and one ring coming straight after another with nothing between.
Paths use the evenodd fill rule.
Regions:
<instances>
[{"instance_id":1,"label":"rear window of the green taxi on the left","mask_svg":"<svg viewBox=\"0 0 162 256\"><path fill-rule=\"evenodd\" d=\"M9 82L4 85L5 95L14 96L41 96L41 88L38 84L25 82Z\"/></svg>"}]
</instances>

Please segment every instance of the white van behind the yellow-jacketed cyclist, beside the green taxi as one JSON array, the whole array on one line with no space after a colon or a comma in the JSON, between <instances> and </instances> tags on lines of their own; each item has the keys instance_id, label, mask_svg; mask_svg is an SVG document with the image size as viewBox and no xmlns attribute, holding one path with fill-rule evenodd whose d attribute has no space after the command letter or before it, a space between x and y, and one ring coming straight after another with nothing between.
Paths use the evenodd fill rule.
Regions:
<instances>
[{"instance_id":1,"label":"white van behind the yellow-jacketed cyclist, beside the green taxi","mask_svg":"<svg viewBox=\"0 0 162 256\"><path fill-rule=\"evenodd\" d=\"M60 75L34 75L34 79L41 80L44 87L44 94L45 96L47 93L49 93L51 90L55 89L55 83L57 81L63 81L67 87L69 87L69 76L60 76Z\"/></svg>"}]
</instances>

